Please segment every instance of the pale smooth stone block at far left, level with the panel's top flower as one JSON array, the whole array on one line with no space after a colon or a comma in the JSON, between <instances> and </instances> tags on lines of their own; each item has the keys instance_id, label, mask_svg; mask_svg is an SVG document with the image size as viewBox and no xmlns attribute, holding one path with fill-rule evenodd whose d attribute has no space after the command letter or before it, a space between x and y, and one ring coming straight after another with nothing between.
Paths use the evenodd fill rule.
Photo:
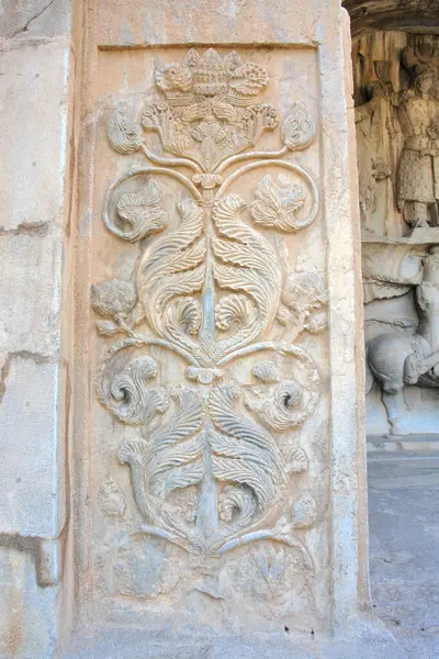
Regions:
<instances>
[{"instance_id":1,"label":"pale smooth stone block at far left, level with the panel's top flower","mask_svg":"<svg viewBox=\"0 0 439 659\"><path fill-rule=\"evenodd\" d=\"M4 42L0 52L2 233L43 234L63 221L68 66L65 37Z\"/></svg>"}]
</instances>

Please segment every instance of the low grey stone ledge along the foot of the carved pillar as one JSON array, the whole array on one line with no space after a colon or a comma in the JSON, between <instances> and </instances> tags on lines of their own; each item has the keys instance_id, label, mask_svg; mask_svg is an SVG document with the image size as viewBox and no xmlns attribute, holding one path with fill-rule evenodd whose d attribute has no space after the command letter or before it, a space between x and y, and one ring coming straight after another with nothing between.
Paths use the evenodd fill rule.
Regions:
<instances>
[{"instance_id":1,"label":"low grey stone ledge along the foot of the carved pillar","mask_svg":"<svg viewBox=\"0 0 439 659\"><path fill-rule=\"evenodd\" d=\"M365 616L350 634L293 636L282 632L270 637L252 634L204 638L196 634L178 637L139 629L101 628L76 633L63 659L406 659L392 634L378 618Z\"/></svg>"}]
</instances>

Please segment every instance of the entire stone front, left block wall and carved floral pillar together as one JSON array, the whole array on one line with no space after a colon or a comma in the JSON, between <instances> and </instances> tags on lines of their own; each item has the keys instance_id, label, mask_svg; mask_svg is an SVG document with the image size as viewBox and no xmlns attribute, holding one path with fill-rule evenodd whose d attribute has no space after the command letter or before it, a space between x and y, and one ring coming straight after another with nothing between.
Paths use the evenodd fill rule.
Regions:
<instances>
[{"instance_id":1,"label":"entire stone front, left block wall and carved floral pillar together","mask_svg":"<svg viewBox=\"0 0 439 659\"><path fill-rule=\"evenodd\" d=\"M2 8L0 655L396 657L338 0Z\"/></svg>"}]
</instances>

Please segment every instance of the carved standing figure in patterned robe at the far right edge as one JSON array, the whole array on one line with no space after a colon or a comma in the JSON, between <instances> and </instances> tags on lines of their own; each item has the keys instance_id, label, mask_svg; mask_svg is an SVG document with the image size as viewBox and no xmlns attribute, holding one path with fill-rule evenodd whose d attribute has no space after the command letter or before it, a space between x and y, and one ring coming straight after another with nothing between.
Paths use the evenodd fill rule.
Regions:
<instances>
[{"instance_id":1,"label":"carved standing figure in patterned robe at the far right edge","mask_svg":"<svg viewBox=\"0 0 439 659\"><path fill-rule=\"evenodd\" d=\"M438 58L430 44L407 46L403 64L412 87L394 97L405 144L397 171L397 206L412 227L438 226Z\"/></svg>"}]
</instances>

